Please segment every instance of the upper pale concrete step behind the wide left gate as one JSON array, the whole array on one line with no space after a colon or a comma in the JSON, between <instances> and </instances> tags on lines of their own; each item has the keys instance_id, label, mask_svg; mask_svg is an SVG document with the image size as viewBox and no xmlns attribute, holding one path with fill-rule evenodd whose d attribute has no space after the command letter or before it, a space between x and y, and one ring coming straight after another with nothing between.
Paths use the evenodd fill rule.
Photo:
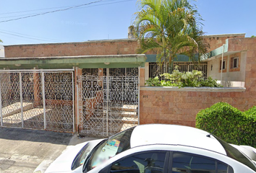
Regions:
<instances>
[{"instance_id":1,"label":"upper pale concrete step behind the wide left gate","mask_svg":"<svg viewBox=\"0 0 256 173\"><path fill-rule=\"evenodd\" d=\"M23 111L33 109L33 103L32 102L23 102L22 107L23 107ZM12 115L15 115L20 112L21 112L20 102L15 102L12 105L9 105L7 107L2 107L3 117L12 116Z\"/></svg>"}]
</instances>

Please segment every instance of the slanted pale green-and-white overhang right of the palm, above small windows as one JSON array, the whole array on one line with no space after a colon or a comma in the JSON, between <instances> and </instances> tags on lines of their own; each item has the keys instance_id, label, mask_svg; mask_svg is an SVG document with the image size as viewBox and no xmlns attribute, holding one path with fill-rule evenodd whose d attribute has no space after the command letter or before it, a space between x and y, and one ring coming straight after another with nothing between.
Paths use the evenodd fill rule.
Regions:
<instances>
[{"instance_id":1,"label":"slanted pale green-and-white overhang right of the palm, above small windows","mask_svg":"<svg viewBox=\"0 0 256 173\"><path fill-rule=\"evenodd\" d=\"M208 53L208 57L203 57L202 61L211 61L213 59L220 58L222 54L223 56L229 56L231 54L239 53L242 51L242 50L232 50L230 47L231 46L229 46L229 39L227 39L225 44L223 44L219 48L216 48L213 51L210 51L210 53Z\"/></svg>"}]
</instances>

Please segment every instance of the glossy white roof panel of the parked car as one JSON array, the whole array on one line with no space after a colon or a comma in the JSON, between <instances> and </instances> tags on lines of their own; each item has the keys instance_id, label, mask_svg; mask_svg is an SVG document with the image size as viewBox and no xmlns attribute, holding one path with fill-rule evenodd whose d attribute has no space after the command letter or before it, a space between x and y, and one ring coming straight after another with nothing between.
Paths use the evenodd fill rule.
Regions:
<instances>
[{"instance_id":1,"label":"glossy white roof panel of the parked car","mask_svg":"<svg viewBox=\"0 0 256 173\"><path fill-rule=\"evenodd\" d=\"M138 125L132 132L131 148L152 144L192 146L225 154L221 143L210 133L183 125L149 124Z\"/></svg>"}]
</instances>

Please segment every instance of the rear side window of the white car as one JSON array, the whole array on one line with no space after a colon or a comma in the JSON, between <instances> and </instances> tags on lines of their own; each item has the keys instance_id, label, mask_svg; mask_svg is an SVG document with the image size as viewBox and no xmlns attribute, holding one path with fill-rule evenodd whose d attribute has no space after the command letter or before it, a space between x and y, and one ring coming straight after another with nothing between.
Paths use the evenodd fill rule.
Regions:
<instances>
[{"instance_id":1,"label":"rear side window of the white car","mask_svg":"<svg viewBox=\"0 0 256 173\"><path fill-rule=\"evenodd\" d=\"M217 169L217 170L216 170ZM229 165L210 159L205 156L186 153L174 153L172 162L172 172L184 173L233 173L233 169Z\"/></svg>"}]
</instances>

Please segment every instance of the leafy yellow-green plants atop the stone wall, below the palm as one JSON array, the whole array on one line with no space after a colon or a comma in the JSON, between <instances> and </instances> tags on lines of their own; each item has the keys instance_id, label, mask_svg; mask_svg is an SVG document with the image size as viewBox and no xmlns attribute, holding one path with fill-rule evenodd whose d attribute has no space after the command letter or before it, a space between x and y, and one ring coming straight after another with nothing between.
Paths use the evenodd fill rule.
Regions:
<instances>
[{"instance_id":1,"label":"leafy yellow-green plants atop the stone wall, below the palm","mask_svg":"<svg viewBox=\"0 0 256 173\"><path fill-rule=\"evenodd\" d=\"M191 86L191 87L201 87L201 86L210 86L210 87L221 87L216 80L213 80L211 77L208 79L203 79L202 71L193 70L192 72L182 73L176 66L172 74L161 74L164 77L164 80L159 80L158 77L154 79L148 79L146 81L147 86Z\"/></svg>"}]
</instances>

